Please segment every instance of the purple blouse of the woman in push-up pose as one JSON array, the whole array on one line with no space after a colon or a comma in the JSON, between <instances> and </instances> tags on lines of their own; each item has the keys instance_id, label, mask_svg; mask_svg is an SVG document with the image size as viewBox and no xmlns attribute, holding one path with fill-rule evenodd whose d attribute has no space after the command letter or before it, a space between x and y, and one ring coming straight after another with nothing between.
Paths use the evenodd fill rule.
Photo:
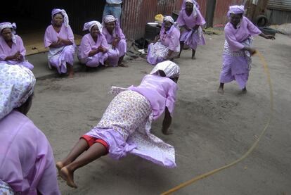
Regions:
<instances>
[{"instance_id":1,"label":"purple blouse of the woman in push-up pose","mask_svg":"<svg viewBox=\"0 0 291 195\"><path fill-rule=\"evenodd\" d=\"M154 120L164 113L166 106L172 115L178 87L176 82L171 79L157 75L145 75L140 85L131 86L128 89L142 94L150 101Z\"/></svg>"}]
</instances>

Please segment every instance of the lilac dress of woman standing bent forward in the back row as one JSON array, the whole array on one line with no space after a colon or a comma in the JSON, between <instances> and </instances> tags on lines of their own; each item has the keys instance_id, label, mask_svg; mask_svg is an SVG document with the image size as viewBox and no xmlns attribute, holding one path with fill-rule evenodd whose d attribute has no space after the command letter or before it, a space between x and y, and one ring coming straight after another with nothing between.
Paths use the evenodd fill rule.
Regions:
<instances>
[{"instance_id":1,"label":"lilac dress of woman standing bent forward in the back row","mask_svg":"<svg viewBox=\"0 0 291 195\"><path fill-rule=\"evenodd\" d=\"M188 28L192 29L195 25L205 25L205 19L198 8L195 8L195 13L195 15L193 13L187 15L185 8L182 8L177 19L179 26L186 25ZM190 46L190 48L194 50L197 49L198 44L205 45L205 37L202 28L198 27L195 31L188 31L185 28L182 28L180 41L184 42L184 44Z\"/></svg>"}]
</instances>

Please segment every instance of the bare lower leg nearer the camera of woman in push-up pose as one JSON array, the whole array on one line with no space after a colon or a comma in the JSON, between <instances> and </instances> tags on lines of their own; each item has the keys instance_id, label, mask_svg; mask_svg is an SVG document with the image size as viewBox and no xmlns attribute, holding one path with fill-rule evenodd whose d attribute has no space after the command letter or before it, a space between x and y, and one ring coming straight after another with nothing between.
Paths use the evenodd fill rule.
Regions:
<instances>
[{"instance_id":1,"label":"bare lower leg nearer the camera of woman in push-up pose","mask_svg":"<svg viewBox=\"0 0 291 195\"><path fill-rule=\"evenodd\" d=\"M82 168L84 165L95 161L97 158L105 155L107 153L105 147L100 143L94 143L86 152L79 156L75 161L66 165L60 170L60 177L62 177L67 185L70 187L77 188L74 182L74 172L78 168Z\"/></svg>"}]
</instances>

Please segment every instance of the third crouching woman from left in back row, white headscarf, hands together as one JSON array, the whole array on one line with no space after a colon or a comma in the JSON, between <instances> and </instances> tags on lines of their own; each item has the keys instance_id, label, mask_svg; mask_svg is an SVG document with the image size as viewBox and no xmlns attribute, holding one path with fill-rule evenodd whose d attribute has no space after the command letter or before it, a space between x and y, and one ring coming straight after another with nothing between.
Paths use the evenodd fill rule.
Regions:
<instances>
[{"instance_id":1,"label":"third crouching woman from left in back row, white headscarf, hands together","mask_svg":"<svg viewBox=\"0 0 291 195\"><path fill-rule=\"evenodd\" d=\"M104 65L108 58L108 44L102 34L102 25L97 21L84 24L83 30L89 30L82 38L78 49L78 58L81 63L89 67Z\"/></svg>"}]
</instances>

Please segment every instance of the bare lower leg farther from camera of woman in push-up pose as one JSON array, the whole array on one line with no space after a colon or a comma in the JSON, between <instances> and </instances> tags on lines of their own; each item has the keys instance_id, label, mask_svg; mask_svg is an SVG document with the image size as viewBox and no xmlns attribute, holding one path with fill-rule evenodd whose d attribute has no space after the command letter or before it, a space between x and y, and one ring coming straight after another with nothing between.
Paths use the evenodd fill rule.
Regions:
<instances>
[{"instance_id":1,"label":"bare lower leg farther from camera of woman in push-up pose","mask_svg":"<svg viewBox=\"0 0 291 195\"><path fill-rule=\"evenodd\" d=\"M87 149L89 149L89 145L87 144L87 141L85 139L79 139L79 141L74 146L74 148L70 151L67 157L64 158L63 161L58 161L58 163L56 163L56 167L58 168L58 174L60 175L60 170L64 166L72 163L72 161L75 161L75 159Z\"/></svg>"}]
</instances>

